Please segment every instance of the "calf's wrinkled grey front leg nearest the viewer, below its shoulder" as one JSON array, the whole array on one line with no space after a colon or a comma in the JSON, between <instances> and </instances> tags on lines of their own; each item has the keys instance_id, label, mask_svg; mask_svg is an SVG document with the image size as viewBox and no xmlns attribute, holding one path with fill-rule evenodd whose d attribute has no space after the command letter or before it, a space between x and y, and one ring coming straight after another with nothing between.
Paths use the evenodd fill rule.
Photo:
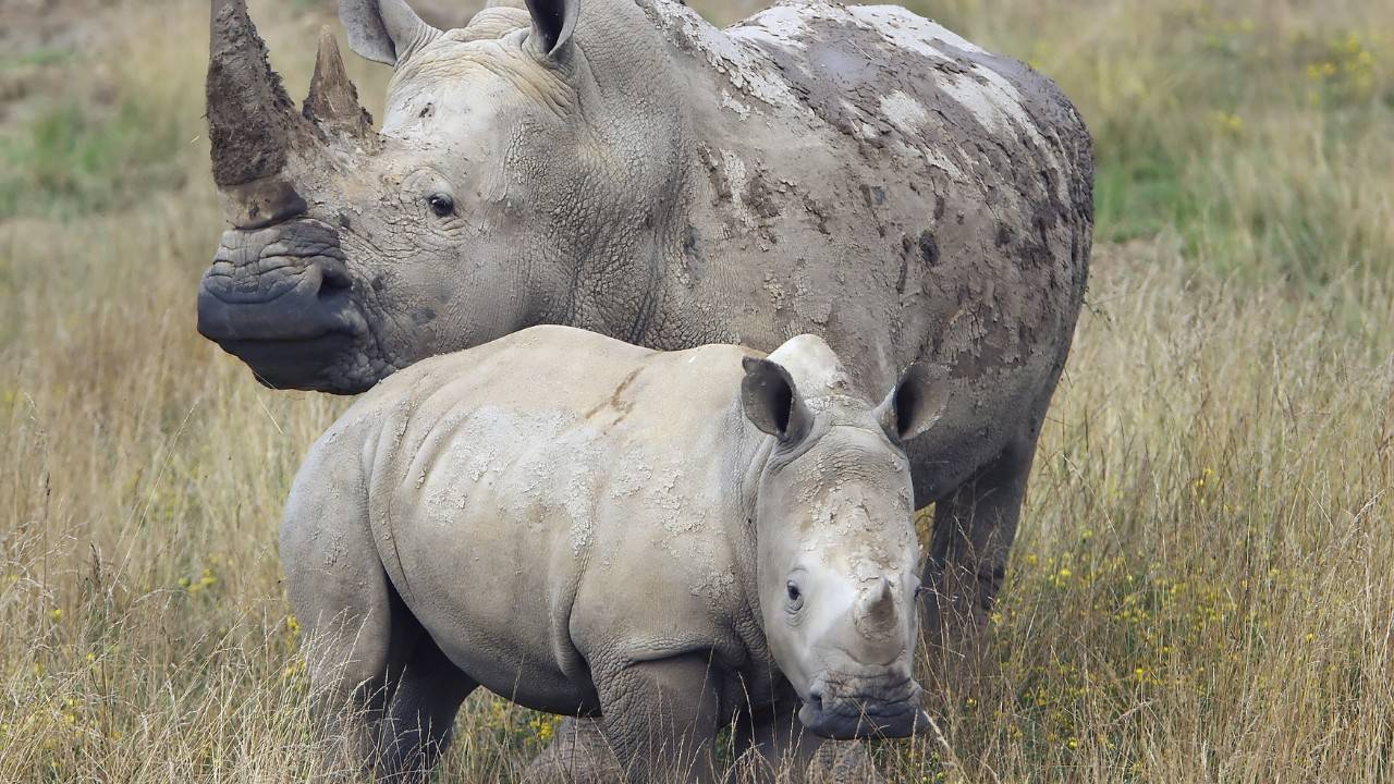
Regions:
<instances>
[{"instance_id":1,"label":"calf's wrinkled grey front leg nearest the viewer, below its shoulder","mask_svg":"<svg viewBox=\"0 0 1394 784\"><path fill-rule=\"evenodd\" d=\"M601 731L630 784L708 783L719 698L707 656L597 671Z\"/></svg>"}]
</instances>

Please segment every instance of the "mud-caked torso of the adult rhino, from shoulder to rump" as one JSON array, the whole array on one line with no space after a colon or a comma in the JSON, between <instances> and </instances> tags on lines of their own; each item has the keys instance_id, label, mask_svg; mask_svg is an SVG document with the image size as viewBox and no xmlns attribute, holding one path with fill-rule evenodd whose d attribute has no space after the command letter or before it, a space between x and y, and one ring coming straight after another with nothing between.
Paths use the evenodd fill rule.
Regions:
<instances>
[{"instance_id":1,"label":"mud-caked torso of the adult rhino, from shoulder to rump","mask_svg":"<svg viewBox=\"0 0 1394 784\"><path fill-rule=\"evenodd\" d=\"M729 312L736 339L820 335L867 393L914 361L947 368L941 425L912 448L916 497L958 487L1023 437L1064 365L1093 230L1079 113L895 6L781 3L726 31L644 6L710 92L691 102L705 181L689 255L739 259L733 300L774 304Z\"/></svg>"}]
</instances>

